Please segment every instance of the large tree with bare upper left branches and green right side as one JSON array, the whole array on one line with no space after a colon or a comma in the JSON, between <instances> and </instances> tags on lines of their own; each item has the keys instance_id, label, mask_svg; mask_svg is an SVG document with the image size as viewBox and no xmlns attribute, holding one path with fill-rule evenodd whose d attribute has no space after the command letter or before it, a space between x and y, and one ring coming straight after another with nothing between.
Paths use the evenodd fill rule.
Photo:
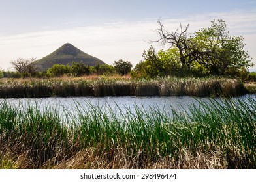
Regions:
<instances>
[{"instance_id":1,"label":"large tree with bare upper left branches and green right side","mask_svg":"<svg viewBox=\"0 0 256 182\"><path fill-rule=\"evenodd\" d=\"M169 49L178 49L182 72L195 74L225 75L227 70L240 72L253 66L248 52L244 51L242 36L229 36L225 21L215 20L208 28L202 28L193 34L180 24L180 31L168 32L161 21L158 21L159 40Z\"/></svg>"}]
</instances>

